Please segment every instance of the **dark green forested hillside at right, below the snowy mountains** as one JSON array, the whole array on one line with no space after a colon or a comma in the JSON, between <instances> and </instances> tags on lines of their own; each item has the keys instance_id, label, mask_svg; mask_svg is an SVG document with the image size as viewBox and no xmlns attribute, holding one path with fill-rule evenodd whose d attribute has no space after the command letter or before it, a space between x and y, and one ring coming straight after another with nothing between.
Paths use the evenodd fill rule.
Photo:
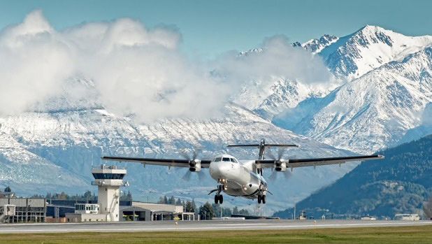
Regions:
<instances>
[{"instance_id":1,"label":"dark green forested hillside at right, below the snowy mountains","mask_svg":"<svg viewBox=\"0 0 432 244\"><path fill-rule=\"evenodd\" d=\"M296 204L308 217L392 219L419 213L432 192L432 135L377 152L385 159L362 162L332 185ZM274 216L291 218L294 209Z\"/></svg>"}]
</instances>

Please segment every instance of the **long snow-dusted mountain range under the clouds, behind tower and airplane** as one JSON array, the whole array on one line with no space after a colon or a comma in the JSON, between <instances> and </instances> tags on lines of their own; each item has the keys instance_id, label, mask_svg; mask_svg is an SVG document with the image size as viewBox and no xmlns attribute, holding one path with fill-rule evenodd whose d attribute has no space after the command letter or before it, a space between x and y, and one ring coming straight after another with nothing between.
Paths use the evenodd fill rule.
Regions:
<instances>
[{"instance_id":1,"label":"long snow-dusted mountain range under the clouds, behind tower and airplane","mask_svg":"<svg viewBox=\"0 0 432 244\"><path fill-rule=\"evenodd\" d=\"M93 94L91 81L77 79L71 82L87 86L89 94ZM87 94L87 98L91 97ZM76 106L78 101L81 101L80 106ZM0 179L19 194L94 190L89 185L92 180L90 170L102 163L99 159L102 155L178 158L182 149L192 154L194 148L201 148L202 157L211 159L217 153L226 152L224 145L228 143L257 142L261 138L301 145L301 149L287 152L291 157L351 154L275 127L234 103L226 104L223 115L211 119L172 119L138 124L131 117L109 113L92 99L71 98L67 89L62 96L40 104L34 112L1 117L0 135ZM233 150L231 153L245 159L257 157L254 150ZM151 190L197 201L211 200L207 194L215 187L215 182L210 178L198 180L192 176L191 182L185 182L182 180L185 169L170 171L157 166L143 168L133 163L121 165L126 165L129 170L129 189L137 199ZM283 208L308 196L355 165L326 166L317 170L301 168L292 173L288 182L279 177L271 183L270 190L280 196L269 198L268 210ZM228 204L249 203L242 199L230 202L227 201Z\"/></svg>"}]
</instances>

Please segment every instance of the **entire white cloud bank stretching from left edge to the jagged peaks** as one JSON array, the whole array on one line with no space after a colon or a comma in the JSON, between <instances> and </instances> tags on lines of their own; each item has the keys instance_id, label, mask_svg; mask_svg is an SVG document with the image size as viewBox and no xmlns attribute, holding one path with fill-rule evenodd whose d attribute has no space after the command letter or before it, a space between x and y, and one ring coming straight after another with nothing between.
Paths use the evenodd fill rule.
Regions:
<instances>
[{"instance_id":1,"label":"entire white cloud bank stretching from left edge to the jagged peaks","mask_svg":"<svg viewBox=\"0 0 432 244\"><path fill-rule=\"evenodd\" d=\"M56 31L35 10L0 33L0 114L43 103L75 77L93 80L109 110L134 113L144 122L214 115L235 91L232 87L245 80L330 78L320 59L292 48L282 36L268 38L263 52L240 58L231 52L205 65L179 50L181 40L174 27L147 29L129 18Z\"/></svg>"}]
</instances>

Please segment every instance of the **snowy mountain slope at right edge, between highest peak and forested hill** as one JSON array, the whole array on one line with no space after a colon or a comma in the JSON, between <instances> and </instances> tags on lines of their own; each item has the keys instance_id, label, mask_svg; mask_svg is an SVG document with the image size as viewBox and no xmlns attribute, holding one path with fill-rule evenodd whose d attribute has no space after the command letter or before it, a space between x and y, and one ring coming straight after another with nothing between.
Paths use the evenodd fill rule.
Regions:
<instances>
[{"instance_id":1,"label":"snowy mountain slope at right edge, between highest peak and forested hill","mask_svg":"<svg viewBox=\"0 0 432 244\"><path fill-rule=\"evenodd\" d=\"M354 152L395 145L422 124L432 102L432 48L405 55L308 99L275 119L281 127Z\"/></svg>"}]
</instances>

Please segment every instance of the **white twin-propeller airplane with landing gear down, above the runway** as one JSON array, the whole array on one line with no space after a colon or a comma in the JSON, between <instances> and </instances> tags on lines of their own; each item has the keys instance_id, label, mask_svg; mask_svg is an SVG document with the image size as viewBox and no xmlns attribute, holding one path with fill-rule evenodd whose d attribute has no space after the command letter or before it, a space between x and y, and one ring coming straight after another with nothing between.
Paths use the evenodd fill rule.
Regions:
<instances>
[{"instance_id":1,"label":"white twin-propeller airplane with landing gear down, above the runway","mask_svg":"<svg viewBox=\"0 0 432 244\"><path fill-rule=\"evenodd\" d=\"M196 153L187 159L155 159L139 157L101 157L103 160L118 162L138 162L149 165L189 168L190 172L201 171L208 168L211 178L217 181L216 189L210 191L215 194L215 203L223 203L222 192L229 196L241 196L246 199L257 199L258 203L266 203L267 182L263 177L263 168L272 168L275 171L285 172L287 168L308 166L322 166L329 164L344 164L352 161L366 161L370 159L383 159L382 155L364 155L352 157L325 157L315 159L282 159L282 153L272 159L264 158L266 148L298 148L294 144L266 144L264 139L259 144L227 145L229 148L259 148L257 160L238 160L232 155L217 155L213 160L196 159ZM280 151L281 152L281 151ZM271 192L268 192L271 194Z\"/></svg>"}]
</instances>

